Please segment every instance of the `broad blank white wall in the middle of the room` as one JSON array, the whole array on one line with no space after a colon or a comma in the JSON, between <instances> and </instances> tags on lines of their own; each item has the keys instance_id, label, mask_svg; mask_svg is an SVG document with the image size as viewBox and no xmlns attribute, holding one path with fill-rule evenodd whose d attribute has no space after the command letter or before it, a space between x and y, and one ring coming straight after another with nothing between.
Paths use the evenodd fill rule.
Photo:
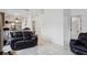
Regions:
<instances>
[{"instance_id":1,"label":"broad blank white wall in the middle of the room","mask_svg":"<svg viewBox=\"0 0 87 65\"><path fill-rule=\"evenodd\" d=\"M42 35L53 43L64 45L63 9L46 9L43 17Z\"/></svg>"}]
</instances>

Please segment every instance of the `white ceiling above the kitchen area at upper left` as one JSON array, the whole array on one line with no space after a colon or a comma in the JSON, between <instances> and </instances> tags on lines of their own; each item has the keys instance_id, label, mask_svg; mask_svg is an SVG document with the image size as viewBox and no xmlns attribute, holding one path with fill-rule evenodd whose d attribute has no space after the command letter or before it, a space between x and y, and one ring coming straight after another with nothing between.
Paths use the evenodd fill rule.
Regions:
<instances>
[{"instance_id":1,"label":"white ceiling above the kitchen area at upper left","mask_svg":"<svg viewBox=\"0 0 87 65\"><path fill-rule=\"evenodd\" d=\"M43 9L0 9L0 12L4 12L6 20L29 19L29 15L37 17L43 13Z\"/></svg>"}]
</instances>

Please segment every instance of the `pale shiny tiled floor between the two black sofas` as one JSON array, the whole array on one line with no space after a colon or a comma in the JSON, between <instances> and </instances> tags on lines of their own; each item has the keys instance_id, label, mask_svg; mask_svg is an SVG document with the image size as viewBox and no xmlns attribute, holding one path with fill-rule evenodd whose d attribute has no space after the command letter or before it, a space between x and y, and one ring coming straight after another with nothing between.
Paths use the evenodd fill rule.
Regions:
<instances>
[{"instance_id":1,"label":"pale shiny tiled floor between the two black sofas","mask_svg":"<svg viewBox=\"0 0 87 65\"><path fill-rule=\"evenodd\" d=\"M64 50L58 44L40 40L39 45L15 52L17 55L74 55L70 51Z\"/></svg>"}]
</instances>

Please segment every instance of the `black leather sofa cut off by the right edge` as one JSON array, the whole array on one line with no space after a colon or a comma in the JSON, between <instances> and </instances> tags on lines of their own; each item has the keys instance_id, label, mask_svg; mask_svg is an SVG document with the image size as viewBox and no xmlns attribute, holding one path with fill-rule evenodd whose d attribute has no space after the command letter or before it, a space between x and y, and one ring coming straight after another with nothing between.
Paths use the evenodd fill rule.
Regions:
<instances>
[{"instance_id":1,"label":"black leather sofa cut off by the right edge","mask_svg":"<svg viewBox=\"0 0 87 65\"><path fill-rule=\"evenodd\" d=\"M87 33L80 33L77 40L70 40L70 51L77 55L87 55Z\"/></svg>"}]
</instances>

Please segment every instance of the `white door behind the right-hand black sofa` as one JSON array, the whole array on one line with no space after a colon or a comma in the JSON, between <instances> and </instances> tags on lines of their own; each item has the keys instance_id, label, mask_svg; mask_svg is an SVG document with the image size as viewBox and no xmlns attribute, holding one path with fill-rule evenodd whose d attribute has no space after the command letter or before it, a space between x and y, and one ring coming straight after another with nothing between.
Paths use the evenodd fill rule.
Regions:
<instances>
[{"instance_id":1,"label":"white door behind the right-hand black sofa","mask_svg":"<svg viewBox=\"0 0 87 65\"><path fill-rule=\"evenodd\" d=\"M81 32L81 18L79 15L70 19L70 39L77 39Z\"/></svg>"}]
</instances>

